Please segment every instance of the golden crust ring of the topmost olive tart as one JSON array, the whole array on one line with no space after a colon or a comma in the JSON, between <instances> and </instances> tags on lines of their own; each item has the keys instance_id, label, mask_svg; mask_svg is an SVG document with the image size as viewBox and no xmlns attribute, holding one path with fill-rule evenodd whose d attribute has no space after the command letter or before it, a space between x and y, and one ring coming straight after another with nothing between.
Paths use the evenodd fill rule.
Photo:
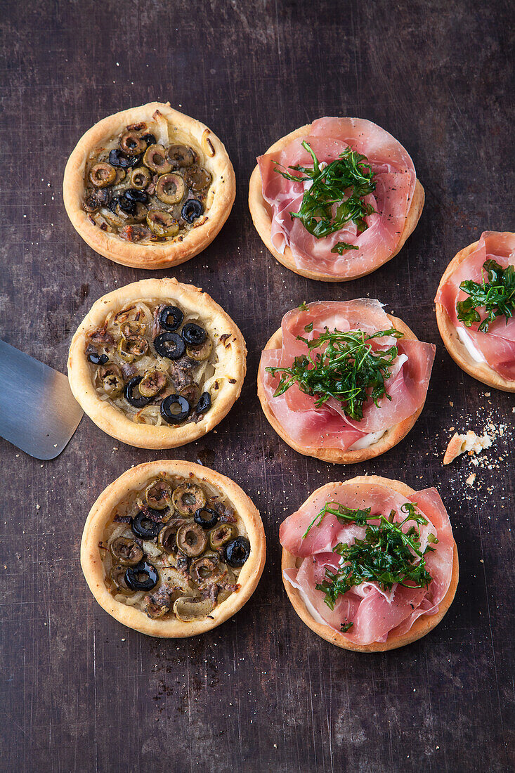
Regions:
<instances>
[{"instance_id":1,"label":"golden crust ring of the topmost olive tart","mask_svg":"<svg viewBox=\"0 0 515 773\"><path fill-rule=\"evenodd\" d=\"M106 233L91 223L82 208L84 174L87 158L102 142L125 131L130 124L152 121L156 111L165 117L175 136L199 148L205 167L213 176L208 194L206 215L198 225L175 239L155 244L131 243L116 233ZM210 244L227 220L236 195L233 165L223 143L205 124L173 110L167 102L149 102L140 107L109 115L94 124L80 138L68 159L63 179L64 206L77 233L95 250L110 261L136 268L169 268L189 261Z\"/></svg>"}]
</instances>

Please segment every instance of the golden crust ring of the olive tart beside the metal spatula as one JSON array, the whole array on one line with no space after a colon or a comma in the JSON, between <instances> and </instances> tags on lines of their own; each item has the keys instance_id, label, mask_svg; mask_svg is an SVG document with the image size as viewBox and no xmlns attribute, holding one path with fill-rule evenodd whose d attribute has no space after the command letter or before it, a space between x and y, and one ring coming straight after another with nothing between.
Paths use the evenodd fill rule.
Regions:
<instances>
[{"instance_id":1,"label":"golden crust ring of the olive tart beside the metal spatula","mask_svg":"<svg viewBox=\"0 0 515 773\"><path fill-rule=\"evenodd\" d=\"M199 421L179 426L136 424L117 407L101 400L94 386L85 355L88 334L104 323L109 312L118 312L134 301L154 299L167 303L173 301L186 311L199 312L203 324L215 341L219 388L210 410ZM181 284L175 278L142 279L95 301L73 335L68 356L68 378L77 402L97 427L111 435L111 438L138 448L177 448L201 438L228 414L240 397L247 370L246 358L247 348L243 335L210 295L193 284Z\"/></svg>"}]
</instances>

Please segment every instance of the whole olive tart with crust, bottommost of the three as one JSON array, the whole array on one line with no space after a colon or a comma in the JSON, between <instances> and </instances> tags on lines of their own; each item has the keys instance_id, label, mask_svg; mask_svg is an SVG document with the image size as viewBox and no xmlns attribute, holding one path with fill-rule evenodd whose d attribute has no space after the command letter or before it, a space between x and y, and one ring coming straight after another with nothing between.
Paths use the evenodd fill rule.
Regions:
<instances>
[{"instance_id":1,"label":"whole olive tart with crust, bottommost of the three","mask_svg":"<svg viewBox=\"0 0 515 773\"><path fill-rule=\"evenodd\" d=\"M151 461L101 493L80 563L105 611L165 638L215 628L240 609L264 567L259 512L229 478L189 461Z\"/></svg>"}]
</instances>

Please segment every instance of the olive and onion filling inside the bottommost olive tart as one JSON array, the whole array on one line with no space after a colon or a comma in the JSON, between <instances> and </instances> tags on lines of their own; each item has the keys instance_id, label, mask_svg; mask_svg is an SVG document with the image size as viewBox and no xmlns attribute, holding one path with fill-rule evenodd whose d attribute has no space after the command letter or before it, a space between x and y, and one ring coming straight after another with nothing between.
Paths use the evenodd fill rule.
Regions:
<instances>
[{"instance_id":1,"label":"olive and onion filling inside the bottommost olive tart","mask_svg":"<svg viewBox=\"0 0 515 773\"><path fill-rule=\"evenodd\" d=\"M210 482L162 472L128 493L99 543L104 584L115 601L156 620L208 617L240 591L251 555L233 502Z\"/></svg>"}]
</instances>

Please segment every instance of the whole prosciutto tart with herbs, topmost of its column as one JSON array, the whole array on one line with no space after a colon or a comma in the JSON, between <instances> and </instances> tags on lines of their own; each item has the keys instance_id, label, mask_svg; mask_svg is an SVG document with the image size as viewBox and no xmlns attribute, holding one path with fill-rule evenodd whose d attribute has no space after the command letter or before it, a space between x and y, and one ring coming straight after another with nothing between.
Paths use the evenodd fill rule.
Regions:
<instances>
[{"instance_id":1,"label":"whole prosciutto tart with herbs, topmost of its column","mask_svg":"<svg viewBox=\"0 0 515 773\"><path fill-rule=\"evenodd\" d=\"M324 117L257 158L249 207L271 254L310 279L376 271L413 232L424 206L408 152L362 118Z\"/></svg>"}]
</instances>

